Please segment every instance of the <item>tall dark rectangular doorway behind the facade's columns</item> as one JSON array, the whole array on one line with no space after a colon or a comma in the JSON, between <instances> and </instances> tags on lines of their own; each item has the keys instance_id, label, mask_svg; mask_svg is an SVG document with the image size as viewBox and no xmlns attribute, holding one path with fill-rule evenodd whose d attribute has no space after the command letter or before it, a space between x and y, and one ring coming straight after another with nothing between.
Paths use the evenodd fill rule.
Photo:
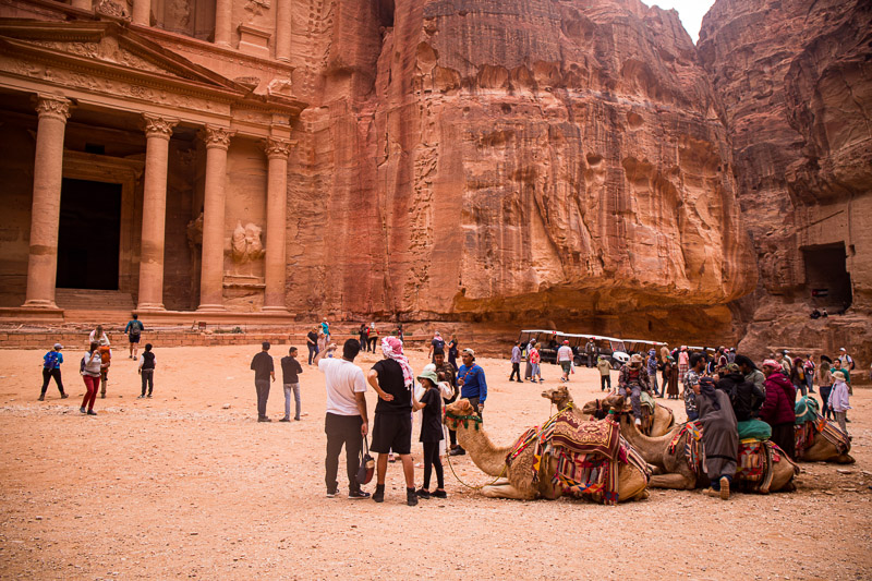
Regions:
<instances>
[{"instance_id":1,"label":"tall dark rectangular doorway behind the facade's columns","mask_svg":"<svg viewBox=\"0 0 872 581\"><path fill-rule=\"evenodd\" d=\"M56 286L118 290L120 238L121 184L64 178Z\"/></svg>"}]
</instances>

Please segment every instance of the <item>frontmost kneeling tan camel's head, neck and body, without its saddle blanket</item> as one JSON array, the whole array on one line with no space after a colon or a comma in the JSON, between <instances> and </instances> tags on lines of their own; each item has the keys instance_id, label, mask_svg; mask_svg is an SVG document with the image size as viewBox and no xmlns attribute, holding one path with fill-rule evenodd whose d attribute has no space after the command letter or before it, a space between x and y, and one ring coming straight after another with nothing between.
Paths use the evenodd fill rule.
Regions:
<instances>
[{"instance_id":1,"label":"frontmost kneeling tan camel's head, neck and body, without its saddle blanket","mask_svg":"<svg viewBox=\"0 0 872 581\"><path fill-rule=\"evenodd\" d=\"M512 446L498 447L491 441L482 425L481 416L474 413L468 399L449 403L445 411L446 415L443 421L452 429L457 429L458 443L469 452L475 465L485 474L495 477L507 476L482 488L485 496L518 500L532 500L540 497L555 500L562 496L561 488L552 482L557 467L556 459L550 456L543 459L537 482L533 482L535 446L529 446L507 469L506 457L511 452ZM647 498L646 486L647 479L639 469L632 464L619 464L618 499L620 503Z\"/></svg>"}]
</instances>

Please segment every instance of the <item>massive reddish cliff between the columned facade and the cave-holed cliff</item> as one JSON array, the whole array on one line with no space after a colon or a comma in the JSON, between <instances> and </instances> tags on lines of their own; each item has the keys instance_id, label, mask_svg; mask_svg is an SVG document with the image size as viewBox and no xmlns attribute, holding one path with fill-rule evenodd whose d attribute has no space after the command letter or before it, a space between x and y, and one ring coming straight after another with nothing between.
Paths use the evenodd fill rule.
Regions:
<instances>
[{"instance_id":1,"label":"massive reddish cliff between the columned facade and the cave-holed cliff","mask_svg":"<svg viewBox=\"0 0 872 581\"><path fill-rule=\"evenodd\" d=\"M755 270L726 131L675 12L637 0L324 7L315 20L295 9L323 58L294 86L323 106L303 113L292 168L291 308L625 312L639 314L625 328L685 336L729 325L724 305Z\"/></svg>"}]
</instances>

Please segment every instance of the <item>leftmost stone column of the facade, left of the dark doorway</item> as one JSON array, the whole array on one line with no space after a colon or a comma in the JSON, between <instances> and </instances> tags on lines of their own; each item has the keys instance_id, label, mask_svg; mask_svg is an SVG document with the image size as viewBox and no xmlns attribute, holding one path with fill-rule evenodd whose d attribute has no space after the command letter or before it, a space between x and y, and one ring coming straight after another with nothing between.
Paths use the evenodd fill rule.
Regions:
<instances>
[{"instance_id":1,"label":"leftmost stone column of the facade, left of the dark doorway","mask_svg":"<svg viewBox=\"0 0 872 581\"><path fill-rule=\"evenodd\" d=\"M63 133L70 118L70 101L39 96L39 124L34 158L34 198L31 209L31 249L24 306L57 308L58 223L63 180Z\"/></svg>"}]
</instances>

